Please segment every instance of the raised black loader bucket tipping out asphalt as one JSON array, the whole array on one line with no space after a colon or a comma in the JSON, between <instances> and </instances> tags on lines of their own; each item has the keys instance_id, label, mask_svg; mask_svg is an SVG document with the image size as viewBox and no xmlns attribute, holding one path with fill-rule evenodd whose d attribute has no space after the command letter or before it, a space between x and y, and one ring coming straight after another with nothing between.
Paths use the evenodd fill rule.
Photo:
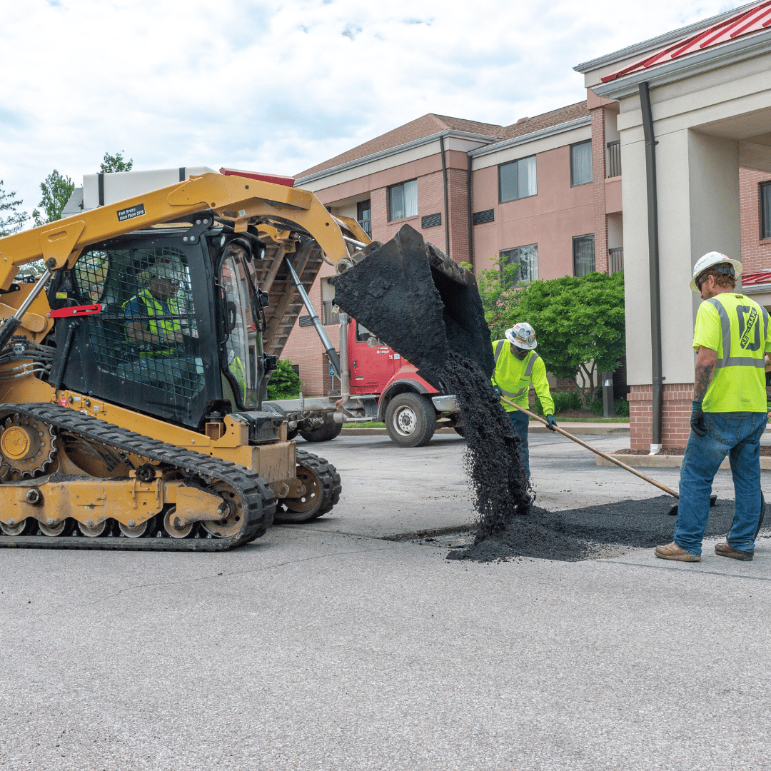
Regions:
<instances>
[{"instance_id":1,"label":"raised black loader bucket tipping out asphalt","mask_svg":"<svg viewBox=\"0 0 771 771\"><path fill-rule=\"evenodd\" d=\"M370 244L361 261L335 276L335 303L446 392L448 352L495 369L490 328L476 278L409 225L385 244Z\"/></svg>"}]
</instances>

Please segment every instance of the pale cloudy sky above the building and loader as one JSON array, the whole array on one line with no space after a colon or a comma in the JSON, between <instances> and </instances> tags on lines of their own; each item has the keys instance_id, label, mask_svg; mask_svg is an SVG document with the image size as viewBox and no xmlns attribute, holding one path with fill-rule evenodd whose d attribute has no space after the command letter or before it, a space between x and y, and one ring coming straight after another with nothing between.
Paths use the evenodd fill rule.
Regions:
<instances>
[{"instance_id":1,"label":"pale cloudy sky above the building and loader","mask_svg":"<svg viewBox=\"0 0 771 771\"><path fill-rule=\"evenodd\" d=\"M17 0L0 50L0 180L53 169L294 175L425 113L514 123L585 99L573 67L725 0Z\"/></svg>"}]
</instances>

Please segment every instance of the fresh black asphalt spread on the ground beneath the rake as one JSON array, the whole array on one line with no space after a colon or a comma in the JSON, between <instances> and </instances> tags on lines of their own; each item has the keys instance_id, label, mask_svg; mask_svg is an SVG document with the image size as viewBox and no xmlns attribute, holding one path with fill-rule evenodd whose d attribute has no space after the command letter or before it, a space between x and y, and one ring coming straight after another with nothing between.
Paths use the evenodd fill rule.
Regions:
<instances>
[{"instance_id":1,"label":"fresh black asphalt spread on the ground beneath the rake","mask_svg":"<svg viewBox=\"0 0 771 771\"><path fill-rule=\"evenodd\" d=\"M668 544L675 531L675 517L668 515L672 502L671 497L662 495L567 511L534 506L529 517L511 520L499 533L450 551L447 559L493 562L537 557L577 562L607 554L612 546L652 548ZM718 499L709 510L705 537L725 536L732 518L733 501ZM771 534L768 522L764 521L760 534Z\"/></svg>"}]
</instances>

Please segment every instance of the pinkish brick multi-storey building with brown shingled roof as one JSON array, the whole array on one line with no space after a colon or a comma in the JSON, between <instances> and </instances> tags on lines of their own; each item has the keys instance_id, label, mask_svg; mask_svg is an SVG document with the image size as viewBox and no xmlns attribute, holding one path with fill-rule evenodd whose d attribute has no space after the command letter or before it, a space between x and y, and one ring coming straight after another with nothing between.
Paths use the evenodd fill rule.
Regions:
<instances>
[{"instance_id":1,"label":"pinkish brick multi-storey building with brown shingled roof","mask_svg":"<svg viewBox=\"0 0 771 771\"><path fill-rule=\"evenodd\" d=\"M594 84L598 73L707 23L577 66L587 78L585 102L509 126L429 113L305 170L295 184L313 190L332 214L355 217L375 240L387 241L411 224L476 273L501 253L521 264L523 281L621 270L621 106L598 96ZM738 170L743 291L771 308L771 173L762 164L752 166ZM635 186L625 190L637 190L641 180L624 183ZM330 275L332 268L325 266L310 295L324 308L328 335L337 345ZM299 365L306 393L328 389L328 363L312 327L295 327L284 357ZM663 444L684 446L692 381L664 389ZM650 443L651 386L632 385L629 400L632 446L642 448Z\"/></svg>"}]
</instances>

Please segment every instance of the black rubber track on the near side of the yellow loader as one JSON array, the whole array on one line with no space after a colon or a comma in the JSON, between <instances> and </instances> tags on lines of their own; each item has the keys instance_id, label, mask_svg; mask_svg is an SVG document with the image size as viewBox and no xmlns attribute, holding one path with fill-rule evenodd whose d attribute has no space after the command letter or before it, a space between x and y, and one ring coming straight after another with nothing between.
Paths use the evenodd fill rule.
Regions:
<instances>
[{"instance_id":1,"label":"black rubber track on the near side of the yellow loader","mask_svg":"<svg viewBox=\"0 0 771 771\"><path fill-rule=\"evenodd\" d=\"M20 415L42 420L57 429L126 453L133 453L143 458L166 463L169 466L176 466L188 475L204 480L207 484L211 484L214 480L225 482L236 491L243 501L245 516L241 531L227 538L7 536L0 532L0 547L224 551L261 537L273 522L273 515L276 510L275 493L261 476L244 466L238 466L228 460L201 455L189 449L164 443L160 439L151 439L149 436L143 436L143 434L120 428L120 426L113 426L112 423L105 423L103 420L83 415L74 409L56 404L0 405L2 415L9 412L18 412Z\"/></svg>"}]
</instances>

